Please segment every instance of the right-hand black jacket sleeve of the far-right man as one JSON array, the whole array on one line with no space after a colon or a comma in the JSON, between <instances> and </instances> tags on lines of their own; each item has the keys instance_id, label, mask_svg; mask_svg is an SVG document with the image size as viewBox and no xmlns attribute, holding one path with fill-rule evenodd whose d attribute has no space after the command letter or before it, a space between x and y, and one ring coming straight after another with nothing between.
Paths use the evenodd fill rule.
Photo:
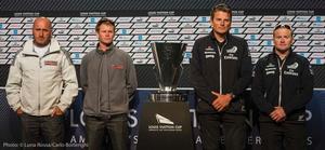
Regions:
<instances>
[{"instance_id":1,"label":"right-hand black jacket sleeve of the far-right man","mask_svg":"<svg viewBox=\"0 0 325 150\"><path fill-rule=\"evenodd\" d=\"M303 62L303 68L300 78L300 87L297 94L292 97L297 100L290 100L286 108L284 108L286 114L291 113L297 109L306 107L311 100L313 95L314 76L311 70L311 66L307 59ZM297 103L298 101L298 103Z\"/></svg>"}]
</instances>

